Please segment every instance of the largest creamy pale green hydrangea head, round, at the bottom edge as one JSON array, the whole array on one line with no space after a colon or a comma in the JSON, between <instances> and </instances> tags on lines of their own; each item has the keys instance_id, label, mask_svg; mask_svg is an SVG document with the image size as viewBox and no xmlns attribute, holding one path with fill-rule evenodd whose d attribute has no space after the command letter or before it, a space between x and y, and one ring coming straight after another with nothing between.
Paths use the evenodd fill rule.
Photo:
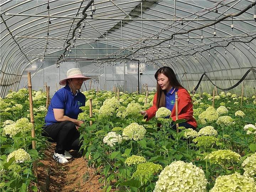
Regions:
<instances>
[{"instance_id":1,"label":"largest creamy pale green hydrangea head, round, at the bottom edge","mask_svg":"<svg viewBox=\"0 0 256 192\"><path fill-rule=\"evenodd\" d=\"M160 173L154 192L204 192L207 179L199 167L183 161L174 161Z\"/></svg>"}]
</instances>

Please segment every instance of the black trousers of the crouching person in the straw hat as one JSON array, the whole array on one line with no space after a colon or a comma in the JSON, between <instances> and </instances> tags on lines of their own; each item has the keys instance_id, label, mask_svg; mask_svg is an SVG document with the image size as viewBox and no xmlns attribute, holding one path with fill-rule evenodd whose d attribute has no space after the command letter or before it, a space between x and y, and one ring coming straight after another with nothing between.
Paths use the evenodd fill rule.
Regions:
<instances>
[{"instance_id":1,"label":"black trousers of the crouching person in the straw hat","mask_svg":"<svg viewBox=\"0 0 256 192\"><path fill-rule=\"evenodd\" d=\"M63 154L65 151L79 150L79 132L75 123L71 121L63 121L44 127L43 136L52 138L56 142L55 153Z\"/></svg>"}]
</instances>

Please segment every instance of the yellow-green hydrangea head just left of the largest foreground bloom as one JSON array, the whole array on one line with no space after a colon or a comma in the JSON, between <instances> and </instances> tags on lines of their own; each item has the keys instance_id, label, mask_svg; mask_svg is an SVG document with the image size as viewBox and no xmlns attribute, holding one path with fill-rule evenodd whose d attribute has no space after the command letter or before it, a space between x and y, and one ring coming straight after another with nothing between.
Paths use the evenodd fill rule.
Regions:
<instances>
[{"instance_id":1,"label":"yellow-green hydrangea head just left of the largest foreground bloom","mask_svg":"<svg viewBox=\"0 0 256 192\"><path fill-rule=\"evenodd\" d=\"M143 162L137 166L137 170L133 173L133 178L147 178L154 174L159 173L162 170L162 166L159 164L154 164L153 162Z\"/></svg>"}]
</instances>

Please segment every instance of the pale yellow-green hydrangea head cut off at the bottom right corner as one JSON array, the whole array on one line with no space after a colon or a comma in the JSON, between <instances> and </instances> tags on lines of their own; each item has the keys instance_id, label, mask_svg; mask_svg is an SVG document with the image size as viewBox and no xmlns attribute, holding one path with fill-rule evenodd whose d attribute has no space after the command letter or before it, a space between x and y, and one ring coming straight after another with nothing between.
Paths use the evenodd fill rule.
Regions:
<instances>
[{"instance_id":1,"label":"pale yellow-green hydrangea head cut off at the bottom right corner","mask_svg":"<svg viewBox=\"0 0 256 192\"><path fill-rule=\"evenodd\" d=\"M256 183L253 178L235 172L231 175L218 176L210 192L255 192Z\"/></svg>"}]
</instances>

